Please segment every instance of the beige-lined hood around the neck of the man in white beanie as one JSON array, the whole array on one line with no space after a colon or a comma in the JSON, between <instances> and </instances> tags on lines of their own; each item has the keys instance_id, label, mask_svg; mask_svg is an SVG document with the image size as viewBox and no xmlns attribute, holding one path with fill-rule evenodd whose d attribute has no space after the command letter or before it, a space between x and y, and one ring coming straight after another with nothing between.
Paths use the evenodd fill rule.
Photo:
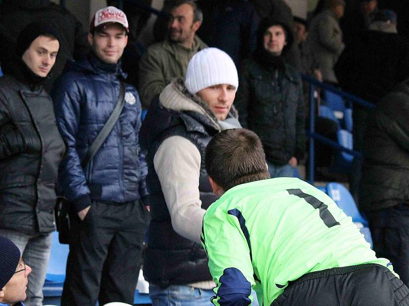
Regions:
<instances>
[{"instance_id":1,"label":"beige-lined hood around the neck of the man in white beanie","mask_svg":"<svg viewBox=\"0 0 409 306\"><path fill-rule=\"evenodd\" d=\"M153 100L141 127L141 144L147 146L171 126L179 124L176 117L181 118L188 130L203 129L202 126L190 125L191 117L196 121L221 131L220 124L208 105L198 95L191 94L183 79L176 79L161 92L158 99ZM232 106L228 118L237 118L238 113Z\"/></svg>"}]
</instances>

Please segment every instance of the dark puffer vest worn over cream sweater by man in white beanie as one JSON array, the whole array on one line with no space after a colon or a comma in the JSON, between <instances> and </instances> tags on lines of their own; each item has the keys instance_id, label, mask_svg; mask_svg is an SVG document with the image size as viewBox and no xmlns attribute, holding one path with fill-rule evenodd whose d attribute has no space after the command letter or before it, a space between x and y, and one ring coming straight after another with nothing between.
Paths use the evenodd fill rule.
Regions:
<instances>
[{"instance_id":1,"label":"dark puffer vest worn over cream sweater by man in white beanie","mask_svg":"<svg viewBox=\"0 0 409 306\"><path fill-rule=\"evenodd\" d=\"M218 132L215 124L205 115L191 111L172 111L160 105L158 100L151 104L141 129L141 138L144 138L145 133L149 134L149 139L145 138L145 142L142 143L148 148L146 183L149 196L144 202L151 207L151 222L144 276L150 283L165 288L169 285L191 284L212 279L202 246L181 237L173 230L161 183L153 166L153 158L161 143L171 136L181 136L195 144L201 156L199 179L201 207L207 209L217 197L212 193L205 169L205 148Z\"/></svg>"}]
</instances>

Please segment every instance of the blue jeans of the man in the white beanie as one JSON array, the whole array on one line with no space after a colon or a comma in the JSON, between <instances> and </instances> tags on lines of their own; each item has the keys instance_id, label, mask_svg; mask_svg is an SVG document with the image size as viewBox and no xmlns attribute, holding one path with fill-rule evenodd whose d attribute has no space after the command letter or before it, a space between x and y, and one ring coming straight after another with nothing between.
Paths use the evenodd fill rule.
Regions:
<instances>
[{"instance_id":1,"label":"blue jeans of the man in the white beanie","mask_svg":"<svg viewBox=\"0 0 409 306\"><path fill-rule=\"evenodd\" d=\"M149 284L152 306L211 306L212 289L198 289L184 285L171 285L165 289Z\"/></svg>"}]
</instances>

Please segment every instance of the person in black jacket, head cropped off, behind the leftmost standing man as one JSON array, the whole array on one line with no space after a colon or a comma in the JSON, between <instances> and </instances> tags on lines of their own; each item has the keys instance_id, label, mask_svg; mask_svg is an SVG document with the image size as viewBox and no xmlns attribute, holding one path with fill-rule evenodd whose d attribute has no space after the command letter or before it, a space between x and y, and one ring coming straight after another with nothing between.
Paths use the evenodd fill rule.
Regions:
<instances>
[{"instance_id":1,"label":"person in black jacket, head cropped off, behind the leftmost standing man","mask_svg":"<svg viewBox=\"0 0 409 306\"><path fill-rule=\"evenodd\" d=\"M62 73L67 59L85 57L89 44L81 22L67 9L50 0L8 0L0 7L0 62L6 68L13 61L17 34L33 21L51 23L60 33L60 50L52 74L44 83L47 91Z\"/></svg>"}]
</instances>

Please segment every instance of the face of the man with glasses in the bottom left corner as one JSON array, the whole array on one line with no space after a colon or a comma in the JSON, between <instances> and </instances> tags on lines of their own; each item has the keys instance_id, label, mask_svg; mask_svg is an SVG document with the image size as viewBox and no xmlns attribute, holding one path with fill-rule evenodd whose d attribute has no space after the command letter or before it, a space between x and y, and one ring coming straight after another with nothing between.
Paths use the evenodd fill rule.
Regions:
<instances>
[{"instance_id":1,"label":"face of the man with glasses in the bottom left corner","mask_svg":"<svg viewBox=\"0 0 409 306\"><path fill-rule=\"evenodd\" d=\"M4 286L4 297L0 299L3 303L14 304L26 299L27 276L31 273L31 268L25 265L20 259L17 265L16 273L10 278L10 281Z\"/></svg>"}]
</instances>

